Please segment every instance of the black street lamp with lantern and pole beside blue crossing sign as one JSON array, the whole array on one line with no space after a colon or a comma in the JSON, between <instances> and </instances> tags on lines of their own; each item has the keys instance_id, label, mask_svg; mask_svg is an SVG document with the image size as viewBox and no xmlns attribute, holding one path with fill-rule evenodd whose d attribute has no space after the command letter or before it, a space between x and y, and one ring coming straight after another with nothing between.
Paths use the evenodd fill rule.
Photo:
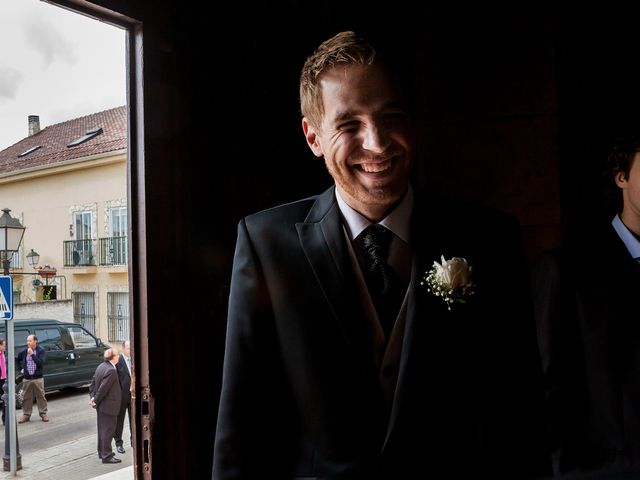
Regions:
<instances>
[{"instance_id":1,"label":"black street lamp with lantern and pole beside blue crossing sign","mask_svg":"<svg viewBox=\"0 0 640 480\"><path fill-rule=\"evenodd\" d=\"M2 270L4 275L9 275L9 267L13 254L20 248L25 227L17 218L10 215L11 210L2 209L0 215L0 258L2 258ZM3 469L15 473L22 468L22 455L18 446L18 431L16 430L16 367L15 346L13 338L13 322L4 320L5 340L7 344L7 379L4 382L5 427L4 427L4 457ZM12 448L14 447L15 448Z\"/></svg>"}]
</instances>

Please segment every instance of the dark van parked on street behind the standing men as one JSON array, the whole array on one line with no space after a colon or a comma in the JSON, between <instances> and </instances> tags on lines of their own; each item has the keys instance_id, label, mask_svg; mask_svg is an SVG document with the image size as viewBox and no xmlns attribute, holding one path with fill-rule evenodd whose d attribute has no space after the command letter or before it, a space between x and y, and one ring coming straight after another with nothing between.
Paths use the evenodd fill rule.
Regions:
<instances>
[{"instance_id":1,"label":"dark van parked on street behind the standing men","mask_svg":"<svg viewBox=\"0 0 640 480\"><path fill-rule=\"evenodd\" d=\"M99 338L77 323L59 320L14 319L15 354L27 346L27 336L35 335L47 356L44 363L46 392L80 387L91 382L96 367L109 348ZM4 338L4 323L0 337ZM22 373L16 365L16 406L22 407Z\"/></svg>"}]
</instances>

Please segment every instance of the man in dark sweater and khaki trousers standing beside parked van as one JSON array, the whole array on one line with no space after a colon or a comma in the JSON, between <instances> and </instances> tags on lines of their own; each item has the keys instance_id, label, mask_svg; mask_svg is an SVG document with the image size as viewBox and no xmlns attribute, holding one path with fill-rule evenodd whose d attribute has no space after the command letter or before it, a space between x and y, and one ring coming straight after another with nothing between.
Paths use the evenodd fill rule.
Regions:
<instances>
[{"instance_id":1,"label":"man in dark sweater and khaki trousers standing beside parked van","mask_svg":"<svg viewBox=\"0 0 640 480\"><path fill-rule=\"evenodd\" d=\"M22 417L18 423L25 423L31 419L33 410L33 395L35 393L38 403L38 413L43 422L48 422L47 399L44 396L44 360L46 353L44 348L38 345L38 337L27 337L27 348L16 357L18 368L21 369L22 379Z\"/></svg>"}]
</instances>

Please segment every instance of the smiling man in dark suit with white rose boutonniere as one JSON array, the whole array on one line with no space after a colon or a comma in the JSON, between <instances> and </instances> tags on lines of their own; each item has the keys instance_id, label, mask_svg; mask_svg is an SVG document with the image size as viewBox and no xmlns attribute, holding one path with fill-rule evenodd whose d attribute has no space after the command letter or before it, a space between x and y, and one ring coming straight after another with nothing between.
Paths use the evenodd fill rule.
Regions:
<instances>
[{"instance_id":1,"label":"smiling man in dark suit with white rose boutonniere","mask_svg":"<svg viewBox=\"0 0 640 480\"><path fill-rule=\"evenodd\" d=\"M414 190L409 102L353 32L300 97L335 185L238 226L213 478L545 474L517 223Z\"/></svg>"}]
</instances>

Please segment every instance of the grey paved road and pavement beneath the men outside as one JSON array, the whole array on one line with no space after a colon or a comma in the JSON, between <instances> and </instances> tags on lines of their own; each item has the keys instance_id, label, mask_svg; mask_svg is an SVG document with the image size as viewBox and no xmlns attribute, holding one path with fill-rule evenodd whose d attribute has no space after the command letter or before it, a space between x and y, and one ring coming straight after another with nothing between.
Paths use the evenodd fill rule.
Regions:
<instances>
[{"instance_id":1,"label":"grey paved road and pavement beneath the men outside","mask_svg":"<svg viewBox=\"0 0 640 480\"><path fill-rule=\"evenodd\" d=\"M130 466L133 462L129 426L125 420L126 453L117 465L103 465L96 450L96 413L89 405L88 388L78 388L47 394L50 421L45 423L33 406L31 421L18 425L18 440L22 454L22 470L17 478L38 480L87 480ZM17 412L18 418L22 414ZM4 430L0 433L4 453ZM3 472L0 479L12 478ZM132 477L133 478L133 477Z\"/></svg>"}]
</instances>

